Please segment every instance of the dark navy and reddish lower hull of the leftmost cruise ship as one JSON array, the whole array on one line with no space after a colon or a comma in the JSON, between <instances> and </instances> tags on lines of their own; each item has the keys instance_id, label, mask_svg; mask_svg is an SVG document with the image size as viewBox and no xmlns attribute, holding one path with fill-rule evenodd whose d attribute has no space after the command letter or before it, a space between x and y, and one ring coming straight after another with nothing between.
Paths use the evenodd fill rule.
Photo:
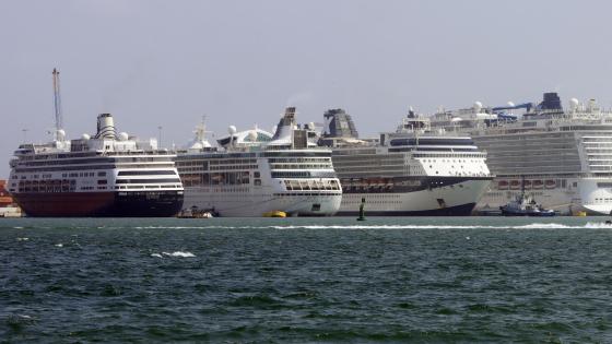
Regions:
<instances>
[{"instance_id":1,"label":"dark navy and reddish lower hull of the leftmost cruise ship","mask_svg":"<svg viewBox=\"0 0 612 344\"><path fill-rule=\"evenodd\" d=\"M167 217L183 207L181 191L16 193L32 217Z\"/></svg>"}]
</instances>

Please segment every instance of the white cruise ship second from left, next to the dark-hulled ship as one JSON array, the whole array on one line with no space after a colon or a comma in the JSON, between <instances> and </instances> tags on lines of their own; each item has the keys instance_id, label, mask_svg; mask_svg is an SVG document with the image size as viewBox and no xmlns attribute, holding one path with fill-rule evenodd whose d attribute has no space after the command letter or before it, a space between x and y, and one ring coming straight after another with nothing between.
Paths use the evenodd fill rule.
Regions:
<instances>
[{"instance_id":1,"label":"white cruise ship second from left, next to the dark-hulled ship","mask_svg":"<svg viewBox=\"0 0 612 344\"><path fill-rule=\"evenodd\" d=\"M185 207L219 216L330 216L338 212L342 188L331 151L318 147L313 124L299 127L289 107L272 135L255 128L217 140L212 147L203 124L176 164L185 185Z\"/></svg>"}]
</instances>

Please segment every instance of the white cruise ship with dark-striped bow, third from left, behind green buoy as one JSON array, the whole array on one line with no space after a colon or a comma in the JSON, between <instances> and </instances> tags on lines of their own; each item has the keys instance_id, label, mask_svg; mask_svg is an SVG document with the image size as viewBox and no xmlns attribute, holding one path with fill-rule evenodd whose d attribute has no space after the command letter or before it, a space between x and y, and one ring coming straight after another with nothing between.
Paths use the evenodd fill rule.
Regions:
<instances>
[{"instance_id":1,"label":"white cruise ship with dark-striped bow, third from left, behind green buoy","mask_svg":"<svg viewBox=\"0 0 612 344\"><path fill-rule=\"evenodd\" d=\"M492 176L468 135L431 130L412 109L395 132L360 140L352 118L328 110L319 143L332 149L343 190L340 215L470 215Z\"/></svg>"}]
</instances>

